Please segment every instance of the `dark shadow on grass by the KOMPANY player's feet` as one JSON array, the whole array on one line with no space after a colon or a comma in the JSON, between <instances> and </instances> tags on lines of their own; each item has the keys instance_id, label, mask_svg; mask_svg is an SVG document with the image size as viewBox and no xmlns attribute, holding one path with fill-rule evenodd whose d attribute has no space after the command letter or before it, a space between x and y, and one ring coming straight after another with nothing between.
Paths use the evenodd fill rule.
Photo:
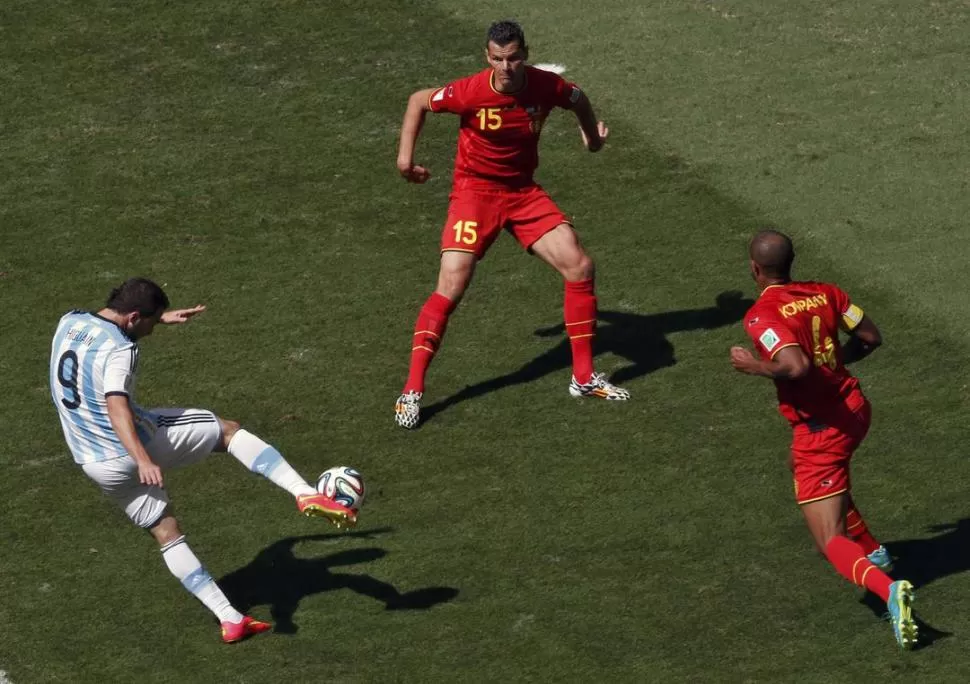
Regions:
<instances>
[{"instance_id":1,"label":"dark shadow on grass by the KOMPANY player's feet","mask_svg":"<svg viewBox=\"0 0 970 684\"><path fill-rule=\"evenodd\" d=\"M930 582L970 570L970 518L933 525L929 531L934 536L885 543L895 559L892 576L912 582L917 593L920 587ZM886 612L885 604L872 594L866 594L864 602L877 615ZM952 632L936 629L919 617L916 622L921 648L952 635Z\"/></svg>"}]
</instances>

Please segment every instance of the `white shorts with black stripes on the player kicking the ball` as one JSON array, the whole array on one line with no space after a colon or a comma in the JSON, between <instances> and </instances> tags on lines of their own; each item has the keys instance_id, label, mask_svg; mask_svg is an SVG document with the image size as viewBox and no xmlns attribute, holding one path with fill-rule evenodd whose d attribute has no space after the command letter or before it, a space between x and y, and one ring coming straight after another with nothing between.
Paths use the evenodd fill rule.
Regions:
<instances>
[{"instance_id":1,"label":"white shorts with black stripes on the player kicking the ball","mask_svg":"<svg viewBox=\"0 0 970 684\"><path fill-rule=\"evenodd\" d=\"M151 418L155 434L145 449L163 471L199 463L222 437L222 426L212 411L152 409ZM161 520L168 491L139 482L138 465L131 456L86 463L81 468L139 527L149 528Z\"/></svg>"}]
</instances>

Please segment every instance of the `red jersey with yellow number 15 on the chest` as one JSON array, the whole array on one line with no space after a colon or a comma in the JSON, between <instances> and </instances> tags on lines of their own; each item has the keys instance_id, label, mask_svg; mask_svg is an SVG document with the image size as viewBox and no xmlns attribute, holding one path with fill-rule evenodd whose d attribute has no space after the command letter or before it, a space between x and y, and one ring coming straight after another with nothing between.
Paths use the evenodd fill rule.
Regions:
<instances>
[{"instance_id":1,"label":"red jersey with yellow number 15 on the chest","mask_svg":"<svg viewBox=\"0 0 970 684\"><path fill-rule=\"evenodd\" d=\"M431 111L461 117L455 187L463 180L532 185L543 122L554 107L569 109L581 94L561 76L530 66L525 67L525 84L514 93L495 90L491 68L434 91Z\"/></svg>"}]
</instances>

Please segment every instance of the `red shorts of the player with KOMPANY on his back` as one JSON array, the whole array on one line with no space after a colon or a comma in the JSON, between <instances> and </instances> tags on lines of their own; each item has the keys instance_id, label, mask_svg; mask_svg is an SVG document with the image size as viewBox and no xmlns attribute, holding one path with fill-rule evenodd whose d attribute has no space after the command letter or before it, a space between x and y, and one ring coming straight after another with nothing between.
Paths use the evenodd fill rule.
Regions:
<instances>
[{"instance_id":1,"label":"red shorts of the player with KOMPANY on his back","mask_svg":"<svg viewBox=\"0 0 970 684\"><path fill-rule=\"evenodd\" d=\"M861 396L861 395L860 395ZM805 422L794 427L791 446L795 501L799 505L827 499L852 489L849 461L872 420L869 402L846 412L839 427Z\"/></svg>"}]
</instances>

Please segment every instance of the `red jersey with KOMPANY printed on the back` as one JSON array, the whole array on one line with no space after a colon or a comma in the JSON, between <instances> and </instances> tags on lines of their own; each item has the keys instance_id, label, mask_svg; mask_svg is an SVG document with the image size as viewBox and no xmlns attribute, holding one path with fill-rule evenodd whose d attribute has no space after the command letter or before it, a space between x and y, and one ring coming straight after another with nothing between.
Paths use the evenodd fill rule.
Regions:
<instances>
[{"instance_id":1,"label":"red jersey with KOMPANY printed on the back","mask_svg":"<svg viewBox=\"0 0 970 684\"><path fill-rule=\"evenodd\" d=\"M839 425L850 395L860 395L850 402L858 404L859 381L842 363L839 329L854 330L863 315L838 287L814 282L769 285L748 310L744 327L763 359L797 345L812 360L805 377L775 380L778 410L793 425Z\"/></svg>"}]
</instances>

